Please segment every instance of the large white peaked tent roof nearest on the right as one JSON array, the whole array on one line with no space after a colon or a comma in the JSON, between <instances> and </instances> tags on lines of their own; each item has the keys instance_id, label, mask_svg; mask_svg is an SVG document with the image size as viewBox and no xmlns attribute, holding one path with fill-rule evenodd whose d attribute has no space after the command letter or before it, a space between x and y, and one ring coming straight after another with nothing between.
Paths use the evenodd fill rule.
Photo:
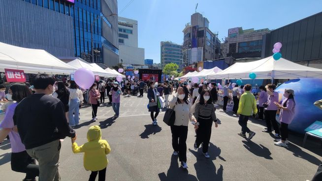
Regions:
<instances>
[{"instance_id":1,"label":"large white peaked tent roof nearest on the right","mask_svg":"<svg viewBox=\"0 0 322 181\"><path fill-rule=\"evenodd\" d=\"M250 79L251 72L256 73L257 79L322 78L322 69L300 65L283 58L274 60L272 56L257 61L237 62L208 78Z\"/></svg>"}]
</instances>

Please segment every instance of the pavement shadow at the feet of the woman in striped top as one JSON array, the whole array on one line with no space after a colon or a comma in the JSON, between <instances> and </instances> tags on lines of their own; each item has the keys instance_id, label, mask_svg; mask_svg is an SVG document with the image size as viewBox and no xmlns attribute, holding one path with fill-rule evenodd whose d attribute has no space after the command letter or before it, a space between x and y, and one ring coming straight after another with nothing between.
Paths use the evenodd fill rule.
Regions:
<instances>
[{"instance_id":1,"label":"pavement shadow at the feet of the woman in striped top","mask_svg":"<svg viewBox=\"0 0 322 181\"><path fill-rule=\"evenodd\" d=\"M197 174L198 181L223 181L223 165L216 168L213 160L216 160L217 157L223 161L226 161L225 158L220 156L222 152L221 149L214 144L210 143L208 148L208 153L210 158L206 158L202 153L202 147L198 151L193 151L189 149L191 153L197 158L197 162L194 164L194 168Z\"/></svg>"}]
</instances>

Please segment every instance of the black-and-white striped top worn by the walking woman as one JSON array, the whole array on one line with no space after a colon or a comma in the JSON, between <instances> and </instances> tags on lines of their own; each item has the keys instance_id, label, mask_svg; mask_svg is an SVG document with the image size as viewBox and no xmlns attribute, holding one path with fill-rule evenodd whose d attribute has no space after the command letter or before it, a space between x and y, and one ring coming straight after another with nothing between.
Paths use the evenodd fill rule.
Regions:
<instances>
[{"instance_id":1,"label":"black-and-white striped top worn by the walking woman","mask_svg":"<svg viewBox=\"0 0 322 181\"><path fill-rule=\"evenodd\" d=\"M198 121L198 118L207 118L211 117L214 122L217 122L216 114L215 114L215 105L211 104L200 104L197 102L194 107L194 118Z\"/></svg>"}]
</instances>

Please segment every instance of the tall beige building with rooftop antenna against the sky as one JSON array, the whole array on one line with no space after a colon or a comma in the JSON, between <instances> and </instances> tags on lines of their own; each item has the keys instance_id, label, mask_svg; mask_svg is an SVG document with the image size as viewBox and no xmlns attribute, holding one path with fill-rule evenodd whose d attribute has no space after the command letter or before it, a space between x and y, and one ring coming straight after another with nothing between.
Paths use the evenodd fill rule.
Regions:
<instances>
[{"instance_id":1,"label":"tall beige building with rooftop antenna against the sky","mask_svg":"<svg viewBox=\"0 0 322 181\"><path fill-rule=\"evenodd\" d=\"M200 13L191 15L191 23L186 24L182 32L182 53L186 65L219 58L220 41L217 35L209 30L208 19Z\"/></svg>"}]
</instances>

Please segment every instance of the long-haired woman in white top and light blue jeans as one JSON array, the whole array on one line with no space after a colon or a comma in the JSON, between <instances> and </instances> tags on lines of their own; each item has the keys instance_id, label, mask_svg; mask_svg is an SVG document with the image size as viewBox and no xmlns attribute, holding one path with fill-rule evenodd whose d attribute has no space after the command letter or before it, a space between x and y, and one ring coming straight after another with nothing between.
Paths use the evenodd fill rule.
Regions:
<instances>
[{"instance_id":1,"label":"long-haired woman in white top and light blue jeans","mask_svg":"<svg viewBox=\"0 0 322 181\"><path fill-rule=\"evenodd\" d=\"M75 81L69 81L69 111L68 120L70 126L76 126L79 124L79 89Z\"/></svg>"}]
</instances>

